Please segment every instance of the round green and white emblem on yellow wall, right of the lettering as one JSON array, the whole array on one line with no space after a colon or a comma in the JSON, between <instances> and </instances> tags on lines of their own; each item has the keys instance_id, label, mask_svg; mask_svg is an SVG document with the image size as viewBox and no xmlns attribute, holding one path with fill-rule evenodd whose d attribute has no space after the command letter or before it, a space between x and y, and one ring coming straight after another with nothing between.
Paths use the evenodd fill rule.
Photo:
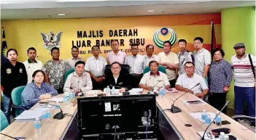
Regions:
<instances>
[{"instance_id":1,"label":"round green and white emblem on yellow wall, right of the lettering","mask_svg":"<svg viewBox=\"0 0 256 140\"><path fill-rule=\"evenodd\" d=\"M156 30L155 33L154 33L154 36L153 36L154 43L159 49L163 49L163 42L164 42L164 41L160 40L159 33L162 36L167 36L168 33L171 33L170 38L168 38L167 40L171 42L171 47L173 47L176 44L177 34L175 33L175 31L172 28L165 28L164 27L164 28Z\"/></svg>"}]
</instances>

